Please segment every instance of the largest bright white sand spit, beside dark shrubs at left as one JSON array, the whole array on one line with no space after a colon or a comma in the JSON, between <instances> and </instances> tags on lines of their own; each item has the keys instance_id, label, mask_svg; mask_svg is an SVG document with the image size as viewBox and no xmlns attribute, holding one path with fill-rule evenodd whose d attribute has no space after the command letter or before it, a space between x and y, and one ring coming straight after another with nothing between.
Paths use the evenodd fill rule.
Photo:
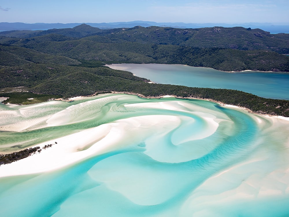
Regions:
<instances>
[{"instance_id":1,"label":"largest bright white sand spit, beside dark shrubs at left","mask_svg":"<svg viewBox=\"0 0 289 217\"><path fill-rule=\"evenodd\" d=\"M127 141L128 138L125 138L127 136L131 143L140 140L139 133L135 131L151 132L154 126L165 126L168 123L175 123L177 126L179 121L174 116L139 116L102 124L79 133L36 144L34 147L43 147L47 144L53 144L53 146L25 159L1 165L0 177L47 172L72 165L89 157L126 146L126 143L121 145L120 141ZM127 131L131 131L132 134L127 134ZM57 144L54 144L55 141Z\"/></svg>"}]
</instances>

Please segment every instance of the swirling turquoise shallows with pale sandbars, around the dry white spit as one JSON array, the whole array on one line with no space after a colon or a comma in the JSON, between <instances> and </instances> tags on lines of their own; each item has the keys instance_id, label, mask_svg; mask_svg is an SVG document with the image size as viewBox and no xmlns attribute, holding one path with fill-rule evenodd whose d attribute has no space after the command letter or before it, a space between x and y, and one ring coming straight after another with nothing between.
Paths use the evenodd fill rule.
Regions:
<instances>
[{"instance_id":1,"label":"swirling turquoise shallows with pale sandbars, around the dry white spit","mask_svg":"<svg viewBox=\"0 0 289 217\"><path fill-rule=\"evenodd\" d=\"M125 94L1 104L0 115L2 152L103 124L118 138L61 169L0 178L2 216L289 215L288 122L205 100Z\"/></svg>"}]
</instances>

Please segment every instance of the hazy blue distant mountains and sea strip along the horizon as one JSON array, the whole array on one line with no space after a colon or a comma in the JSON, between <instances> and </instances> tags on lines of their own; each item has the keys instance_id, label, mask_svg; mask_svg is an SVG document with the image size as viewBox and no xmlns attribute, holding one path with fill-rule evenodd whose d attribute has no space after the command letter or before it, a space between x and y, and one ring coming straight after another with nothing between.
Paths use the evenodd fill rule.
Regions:
<instances>
[{"instance_id":1,"label":"hazy blue distant mountains and sea strip along the horizon","mask_svg":"<svg viewBox=\"0 0 289 217\"><path fill-rule=\"evenodd\" d=\"M0 31L10 30L48 30L48 29L62 29L62 28L73 28L83 23L0 23ZM114 29L114 28L131 28L134 26L160 26L160 27L173 27L173 28L202 28L202 27L236 27L241 26L252 29L262 29L272 34L277 33L289 33L289 24L287 25L274 25L272 23L156 23L151 21L131 21L131 22L115 22L115 23L85 23L92 27L100 29Z\"/></svg>"}]
</instances>

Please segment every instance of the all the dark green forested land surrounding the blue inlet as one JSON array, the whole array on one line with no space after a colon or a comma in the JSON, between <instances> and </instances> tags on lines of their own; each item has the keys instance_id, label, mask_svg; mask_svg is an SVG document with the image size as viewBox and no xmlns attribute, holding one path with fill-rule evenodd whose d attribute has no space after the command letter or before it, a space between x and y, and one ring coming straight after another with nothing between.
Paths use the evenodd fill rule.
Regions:
<instances>
[{"instance_id":1,"label":"all the dark green forested land surrounding the blue inlet","mask_svg":"<svg viewBox=\"0 0 289 217\"><path fill-rule=\"evenodd\" d=\"M116 91L212 99L258 113L289 117L287 100L265 99L235 90L150 84L146 78L103 67L105 63L161 63L221 71L288 72L289 57L284 54L289 54L289 34L271 34L250 27L188 29L138 25L100 29L81 24L65 29L0 32L0 53L0 95L10 97L9 100L14 96L8 90L16 87L34 94L49 94L51 98ZM37 96L30 95L27 102L28 98L36 100Z\"/></svg>"}]
</instances>

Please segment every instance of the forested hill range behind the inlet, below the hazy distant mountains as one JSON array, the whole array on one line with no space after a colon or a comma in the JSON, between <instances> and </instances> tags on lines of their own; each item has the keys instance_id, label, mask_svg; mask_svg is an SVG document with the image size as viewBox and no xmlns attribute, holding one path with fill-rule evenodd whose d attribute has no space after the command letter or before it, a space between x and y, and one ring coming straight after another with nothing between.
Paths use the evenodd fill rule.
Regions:
<instances>
[{"instance_id":1,"label":"forested hill range behind the inlet, below the hazy distant mountains","mask_svg":"<svg viewBox=\"0 0 289 217\"><path fill-rule=\"evenodd\" d=\"M289 71L289 34L260 29L141 27L101 30L86 24L0 33L0 44L73 59L166 63L222 71Z\"/></svg>"}]
</instances>

